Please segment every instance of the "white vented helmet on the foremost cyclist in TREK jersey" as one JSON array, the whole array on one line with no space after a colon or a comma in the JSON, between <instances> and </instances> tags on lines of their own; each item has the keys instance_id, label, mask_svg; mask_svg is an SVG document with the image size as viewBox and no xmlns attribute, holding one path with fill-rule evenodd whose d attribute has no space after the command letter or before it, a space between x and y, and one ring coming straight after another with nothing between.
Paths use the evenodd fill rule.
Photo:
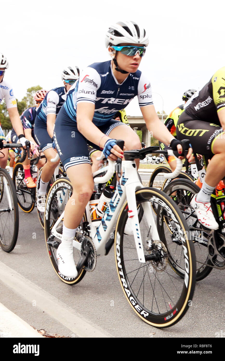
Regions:
<instances>
[{"instance_id":1,"label":"white vented helmet on the foremost cyclist in TREK jersey","mask_svg":"<svg viewBox=\"0 0 225 361\"><path fill-rule=\"evenodd\" d=\"M127 44L144 44L148 46L148 34L142 26L134 21L117 22L112 25L105 34L105 46Z\"/></svg>"}]
</instances>

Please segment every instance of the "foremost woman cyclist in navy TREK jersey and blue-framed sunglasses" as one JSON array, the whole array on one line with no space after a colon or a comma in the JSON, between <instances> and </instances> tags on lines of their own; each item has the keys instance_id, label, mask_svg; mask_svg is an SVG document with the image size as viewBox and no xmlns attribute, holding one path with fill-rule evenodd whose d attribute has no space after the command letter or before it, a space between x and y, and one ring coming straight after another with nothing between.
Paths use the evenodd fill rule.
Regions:
<instances>
[{"instance_id":1,"label":"foremost woman cyclist in navy TREK jersey and blue-framed sunglasses","mask_svg":"<svg viewBox=\"0 0 225 361\"><path fill-rule=\"evenodd\" d=\"M73 238L94 189L87 140L103 148L104 155L110 160L123 158L123 150L116 145L116 139L125 141L126 150L141 149L138 135L127 125L112 119L137 95L147 129L153 131L156 139L182 153L181 143L156 114L150 82L138 70L148 45L144 28L131 21L116 23L109 28L105 45L112 61L95 63L83 70L55 123L57 151L73 186L73 194L65 207L61 244L57 249L59 271L66 277L77 276ZM71 138L71 131L75 132L74 138Z\"/></svg>"}]
</instances>

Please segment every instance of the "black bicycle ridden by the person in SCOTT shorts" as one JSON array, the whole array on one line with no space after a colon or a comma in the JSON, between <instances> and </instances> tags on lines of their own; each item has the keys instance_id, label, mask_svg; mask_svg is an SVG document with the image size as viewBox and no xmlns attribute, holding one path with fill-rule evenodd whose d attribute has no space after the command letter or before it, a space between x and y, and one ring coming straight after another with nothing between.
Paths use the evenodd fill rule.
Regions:
<instances>
[{"instance_id":1,"label":"black bicycle ridden by the person in SCOTT shorts","mask_svg":"<svg viewBox=\"0 0 225 361\"><path fill-rule=\"evenodd\" d=\"M196 154L194 156L196 158ZM206 169L208 159L204 155L203 163ZM202 172L198 162L196 164L198 171ZM218 230L210 230L202 226L198 221L190 202L199 191L200 188L194 182L180 178L173 180L164 188L164 192L177 203L189 225L191 232L189 239L192 239L196 255L196 280L205 278L213 268L225 269L225 188L221 190L215 189L211 195L212 212L219 225ZM174 196L174 192L176 196ZM180 247L176 235L173 234L171 238L174 250ZM179 260L173 264L177 273L179 273L178 264Z\"/></svg>"}]
</instances>

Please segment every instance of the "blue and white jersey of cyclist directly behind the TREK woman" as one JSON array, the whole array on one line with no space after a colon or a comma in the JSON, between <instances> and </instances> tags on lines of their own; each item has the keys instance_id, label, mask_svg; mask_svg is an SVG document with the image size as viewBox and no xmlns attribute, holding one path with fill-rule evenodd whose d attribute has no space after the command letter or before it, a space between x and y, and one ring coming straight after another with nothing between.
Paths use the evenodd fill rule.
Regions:
<instances>
[{"instance_id":1,"label":"blue and white jersey of cyclist directly behind the TREK woman","mask_svg":"<svg viewBox=\"0 0 225 361\"><path fill-rule=\"evenodd\" d=\"M37 110L38 118L47 123L47 114L57 115L65 100L65 87L50 90Z\"/></svg>"}]
</instances>

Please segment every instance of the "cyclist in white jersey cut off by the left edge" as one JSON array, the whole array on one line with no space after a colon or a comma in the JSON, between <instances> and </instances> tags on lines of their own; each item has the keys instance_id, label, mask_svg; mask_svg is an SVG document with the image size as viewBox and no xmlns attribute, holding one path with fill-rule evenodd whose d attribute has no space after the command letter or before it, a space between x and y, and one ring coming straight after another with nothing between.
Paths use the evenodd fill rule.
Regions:
<instances>
[{"instance_id":1,"label":"cyclist in white jersey cut off by the left edge","mask_svg":"<svg viewBox=\"0 0 225 361\"><path fill-rule=\"evenodd\" d=\"M10 84L5 81L4 75L5 70L8 69L9 63L7 58L0 53L0 103L5 100L5 104L9 113L9 118L12 123L18 138L20 139L20 143L25 147L26 138L23 133L23 126L20 120L20 116L17 109L17 101L13 94L13 89ZM6 144L4 132L0 126L0 139L3 140L3 143ZM34 145L31 142L31 149L34 149ZM2 149L1 153L4 154L4 157L0 157L0 167L5 168L8 162L8 149Z\"/></svg>"}]
</instances>

